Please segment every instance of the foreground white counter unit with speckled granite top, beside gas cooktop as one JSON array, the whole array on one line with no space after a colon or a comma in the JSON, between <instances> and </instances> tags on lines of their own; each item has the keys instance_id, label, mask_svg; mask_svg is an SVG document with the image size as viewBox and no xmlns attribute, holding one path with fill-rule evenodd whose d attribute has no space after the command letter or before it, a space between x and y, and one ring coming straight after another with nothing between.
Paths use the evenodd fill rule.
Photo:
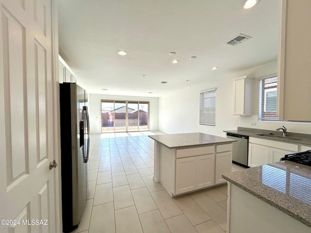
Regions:
<instances>
[{"instance_id":1,"label":"foreground white counter unit with speckled granite top, beside gas cooktop","mask_svg":"<svg viewBox=\"0 0 311 233\"><path fill-rule=\"evenodd\" d=\"M282 161L223 178L227 233L311 233L311 166Z\"/></svg>"}]
</instances>

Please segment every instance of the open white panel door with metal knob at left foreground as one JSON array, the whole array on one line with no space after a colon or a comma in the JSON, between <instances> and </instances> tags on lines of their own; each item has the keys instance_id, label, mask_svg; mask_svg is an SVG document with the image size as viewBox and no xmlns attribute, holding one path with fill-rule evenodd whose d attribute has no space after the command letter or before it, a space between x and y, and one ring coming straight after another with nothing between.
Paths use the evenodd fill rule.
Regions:
<instances>
[{"instance_id":1,"label":"open white panel door with metal knob at left foreground","mask_svg":"<svg viewBox=\"0 0 311 233\"><path fill-rule=\"evenodd\" d=\"M58 232L53 4L0 0L1 233Z\"/></svg>"}]
</instances>

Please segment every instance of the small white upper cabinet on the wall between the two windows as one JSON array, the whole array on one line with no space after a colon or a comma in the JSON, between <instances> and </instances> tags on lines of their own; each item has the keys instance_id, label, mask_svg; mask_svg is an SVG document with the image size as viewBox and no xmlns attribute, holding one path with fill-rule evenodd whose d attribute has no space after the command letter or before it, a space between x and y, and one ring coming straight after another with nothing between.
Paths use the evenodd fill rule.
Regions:
<instances>
[{"instance_id":1,"label":"small white upper cabinet on the wall between the two windows","mask_svg":"<svg viewBox=\"0 0 311 233\"><path fill-rule=\"evenodd\" d=\"M242 76L234 83L234 115L251 116L252 80Z\"/></svg>"}]
</instances>

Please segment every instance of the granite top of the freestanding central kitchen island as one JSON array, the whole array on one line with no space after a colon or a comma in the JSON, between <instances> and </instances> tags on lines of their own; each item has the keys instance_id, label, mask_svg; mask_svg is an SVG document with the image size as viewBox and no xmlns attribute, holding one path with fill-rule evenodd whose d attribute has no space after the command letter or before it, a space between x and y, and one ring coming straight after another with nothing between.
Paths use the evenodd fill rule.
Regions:
<instances>
[{"instance_id":1,"label":"granite top of the freestanding central kitchen island","mask_svg":"<svg viewBox=\"0 0 311 233\"><path fill-rule=\"evenodd\" d=\"M170 149L228 144L237 141L207 133L159 134L149 135L149 137Z\"/></svg>"}]
</instances>

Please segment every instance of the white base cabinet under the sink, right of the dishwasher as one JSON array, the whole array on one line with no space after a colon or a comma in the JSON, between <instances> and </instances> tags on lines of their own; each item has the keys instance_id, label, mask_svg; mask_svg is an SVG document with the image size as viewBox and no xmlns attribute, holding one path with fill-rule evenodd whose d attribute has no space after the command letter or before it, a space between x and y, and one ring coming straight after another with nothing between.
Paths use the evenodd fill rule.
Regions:
<instances>
[{"instance_id":1,"label":"white base cabinet under the sink, right of the dishwasher","mask_svg":"<svg viewBox=\"0 0 311 233\"><path fill-rule=\"evenodd\" d=\"M298 151L298 145L271 140L249 138L248 166L260 166L280 161L285 154Z\"/></svg>"}]
</instances>

